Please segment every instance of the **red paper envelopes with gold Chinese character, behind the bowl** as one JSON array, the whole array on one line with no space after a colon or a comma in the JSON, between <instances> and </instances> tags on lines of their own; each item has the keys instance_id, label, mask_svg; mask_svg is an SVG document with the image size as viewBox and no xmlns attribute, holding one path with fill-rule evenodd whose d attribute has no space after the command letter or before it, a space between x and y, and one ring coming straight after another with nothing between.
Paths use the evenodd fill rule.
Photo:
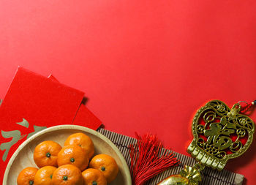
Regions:
<instances>
[{"instance_id":1,"label":"red paper envelopes with gold Chinese character, behind the bowl","mask_svg":"<svg viewBox=\"0 0 256 185\"><path fill-rule=\"evenodd\" d=\"M77 124L97 129L102 124L82 104L84 93L18 68L0 106L0 181L15 150L24 140L47 127Z\"/></svg>"}]
</instances>

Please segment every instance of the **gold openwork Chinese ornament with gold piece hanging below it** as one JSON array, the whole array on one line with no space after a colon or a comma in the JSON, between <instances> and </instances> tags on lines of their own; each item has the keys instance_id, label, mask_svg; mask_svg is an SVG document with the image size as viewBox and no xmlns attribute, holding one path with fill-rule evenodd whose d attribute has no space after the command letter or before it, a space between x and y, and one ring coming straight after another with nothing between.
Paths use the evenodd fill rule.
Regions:
<instances>
[{"instance_id":1,"label":"gold openwork Chinese ornament with gold piece hanging below it","mask_svg":"<svg viewBox=\"0 0 256 185\"><path fill-rule=\"evenodd\" d=\"M241 105L230 108L213 100L197 110L192 123L194 139L187 151L197 159L194 167L185 166L179 175L170 175L158 185L197 185L205 166L222 170L228 159L241 156L252 143L255 125L240 114Z\"/></svg>"}]
</instances>

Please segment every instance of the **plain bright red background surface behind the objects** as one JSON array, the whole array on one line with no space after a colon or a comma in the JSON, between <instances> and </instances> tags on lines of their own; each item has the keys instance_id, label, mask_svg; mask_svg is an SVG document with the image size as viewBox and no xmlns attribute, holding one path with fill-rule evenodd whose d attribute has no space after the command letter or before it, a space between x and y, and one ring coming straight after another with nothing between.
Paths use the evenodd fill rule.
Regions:
<instances>
[{"instance_id":1,"label":"plain bright red background surface behind the objects","mask_svg":"<svg viewBox=\"0 0 256 185\"><path fill-rule=\"evenodd\" d=\"M256 99L256 1L1 0L0 97L18 65L86 92L106 129L182 154L209 99ZM256 121L256 112L252 113ZM256 183L256 140L227 169Z\"/></svg>"}]
</instances>

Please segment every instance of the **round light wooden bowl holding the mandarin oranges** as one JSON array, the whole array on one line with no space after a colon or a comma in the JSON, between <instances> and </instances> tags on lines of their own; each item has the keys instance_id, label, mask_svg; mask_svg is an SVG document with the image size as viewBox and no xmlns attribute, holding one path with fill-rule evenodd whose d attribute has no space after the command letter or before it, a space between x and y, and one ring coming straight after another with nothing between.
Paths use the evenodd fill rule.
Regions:
<instances>
[{"instance_id":1,"label":"round light wooden bowl holding the mandarin oranges","mask_svg":"<svg viewBox=\"0 0 256 185\"><path fill-rule=\"evenodd\" d=\"M34 148L44 140L53 140L64 146L64 141L69 135L76 132L83 132L91 137L94 142L95 154L108 154L116 159L116 163L119 167L119 172L116 179L111 182L111 185L131 185L131 175L129 173L129 167L127 162L122 156L121 152L116 146L108 140L107 137L86 127L76 125L60 125L56 127L50 127L44 129L41 132L29 137L24 143L22 143L17 151L12 155L10 162L7 165L7 169L4 173L3 185L17 184L16 180L18 174L25 167L37 167L34 163L33 154Z\"/></svg>"}]
</instances>

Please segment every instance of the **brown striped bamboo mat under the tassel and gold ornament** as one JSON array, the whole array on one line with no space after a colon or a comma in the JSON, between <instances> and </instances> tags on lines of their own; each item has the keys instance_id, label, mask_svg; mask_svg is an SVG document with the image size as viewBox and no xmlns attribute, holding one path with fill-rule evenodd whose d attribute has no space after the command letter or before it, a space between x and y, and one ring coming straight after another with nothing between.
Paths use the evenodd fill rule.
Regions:
<instances>
[{"instance_id":1,"label":"brown striped bamboo mat under the tassel and gold ornament","mask_svg":"<svg viewBox=\"0 0 256 185\"><path fill-rule=\"evenodd\" d=\"M136 142L135 138L120 135L118 133L111 132L102 128L97 129L97 131L102 135L105 135L105 137L108 137L108 139L110 139L117 146L117 148L123 154L124 159L126 159L127 164L130 166L131 162L129 159L128 147L130 144ZM162 153L165 150L167 149L162 150ZM170 170L166 170L165 172L157 175L156 177L148 181L146 185L155 185L169 175L178 174L178 172L183 169L184 165L193 166L196 163L195 159L193 159L192 157L178 154L177 152L173 153L176 154L176 157L181 161L181 165L179 165L178 167L173 167ZM211 168L206 167L205 170L203 170L203 181L200 183L200 185L241 185L243 184L243 180L244 175L232 173L227 170L211 170Z\"/></svg>"}]
</instances>

